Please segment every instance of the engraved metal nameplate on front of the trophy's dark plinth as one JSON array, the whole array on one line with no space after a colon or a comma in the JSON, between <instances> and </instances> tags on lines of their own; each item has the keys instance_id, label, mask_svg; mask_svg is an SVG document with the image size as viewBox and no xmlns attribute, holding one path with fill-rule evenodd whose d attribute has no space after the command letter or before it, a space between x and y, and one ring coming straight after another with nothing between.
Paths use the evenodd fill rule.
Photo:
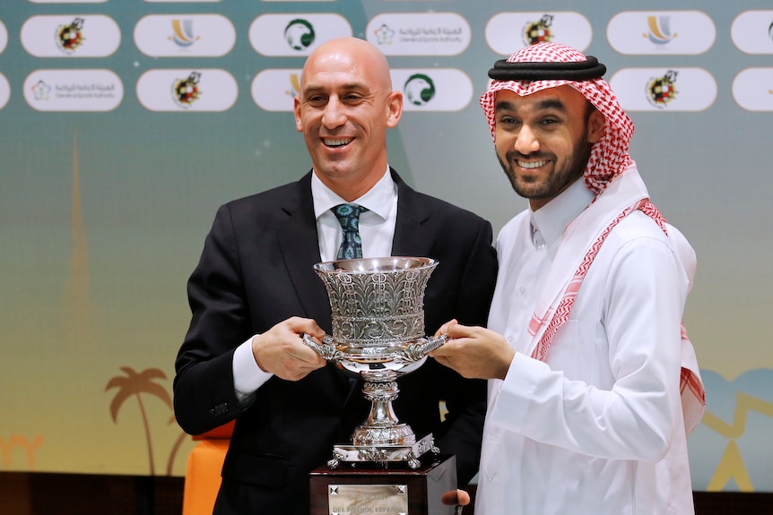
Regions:
<instances>
[{"instance_id":1,"label":"engraved metal nameplate on front of the trophy's dark plinth","mask_svg":"<svg viewBox=\"0 0 773 515\"><path fill-rule=\"evenodd\" d=\"M330 515L407 515L408 485L329 485Z\"/></svg>"}]
</instances>

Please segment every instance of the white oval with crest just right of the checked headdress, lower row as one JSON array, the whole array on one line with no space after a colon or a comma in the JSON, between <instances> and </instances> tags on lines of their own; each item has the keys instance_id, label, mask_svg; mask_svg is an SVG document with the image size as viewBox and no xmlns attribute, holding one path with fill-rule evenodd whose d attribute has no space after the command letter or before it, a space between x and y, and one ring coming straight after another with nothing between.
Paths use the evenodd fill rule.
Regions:
<instances>
[{"instance_id":1,"label":"white oval with crest just right of the checked headdress, lower row","mask_svg":"<svg viewBox=\"0 0 773 515\"><path fill-rule=\"evenodd\" d=\"M609 81L627 111L704 111L717 81L702 68L623 68Z\"/></svg>"}]
</instances>

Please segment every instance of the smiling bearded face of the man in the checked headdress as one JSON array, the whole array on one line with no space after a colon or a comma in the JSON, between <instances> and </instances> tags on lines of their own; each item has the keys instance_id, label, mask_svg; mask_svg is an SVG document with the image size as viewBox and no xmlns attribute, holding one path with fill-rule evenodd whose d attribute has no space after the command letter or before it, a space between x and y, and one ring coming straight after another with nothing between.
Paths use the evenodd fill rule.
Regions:
<instances>
[{"instance_id":1,"label":"smiling bearded face of the man in the checked headdress","mask_svg":"<svg viewBox=\"0 0 773 515\"><path fill-rule=\"evenodd\" d=\"M525 97L500 90L495 109L499 163L532 210L583 175L591 146L604 134L604 116L569 86Z\"/></svg>"}]
</instances>

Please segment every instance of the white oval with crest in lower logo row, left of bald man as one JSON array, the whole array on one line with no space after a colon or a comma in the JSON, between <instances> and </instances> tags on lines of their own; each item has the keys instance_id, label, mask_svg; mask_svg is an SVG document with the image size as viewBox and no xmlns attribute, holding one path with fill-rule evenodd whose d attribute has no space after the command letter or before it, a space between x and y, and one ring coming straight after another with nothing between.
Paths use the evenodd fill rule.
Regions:
<instances>
[{"instance_id":1,"label":"white oval with crest in lower logo row, left of bald man","mask_svg":"<svg viewBox=\"0 0 773 515\"><path fill-rule=\"evenodd\" d=\"M137 81L137 99L149 111L225 111L238 96L236 80L220 69L149 70Z\"/></svg>"}]
</instances>

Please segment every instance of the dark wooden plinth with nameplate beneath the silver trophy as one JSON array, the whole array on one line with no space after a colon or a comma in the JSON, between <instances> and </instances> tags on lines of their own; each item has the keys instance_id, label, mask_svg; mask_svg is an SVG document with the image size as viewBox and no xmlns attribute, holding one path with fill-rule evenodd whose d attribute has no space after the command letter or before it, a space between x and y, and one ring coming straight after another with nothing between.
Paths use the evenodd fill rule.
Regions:
<instances>
[{"instance_id":1,"label":"dark wooden plinth with nameplate beneath the silver trophy","mask_svg":"<svg viewBox=\"0 0 773 515\"><path fill-rule=\"evenodd\" d=\"M451 490L456 490L453 455L427 455L415 469L323 466L309 474L310 515L453 515L455 507L440 502L440 496Z\"/></svg>"}]
</instances>

